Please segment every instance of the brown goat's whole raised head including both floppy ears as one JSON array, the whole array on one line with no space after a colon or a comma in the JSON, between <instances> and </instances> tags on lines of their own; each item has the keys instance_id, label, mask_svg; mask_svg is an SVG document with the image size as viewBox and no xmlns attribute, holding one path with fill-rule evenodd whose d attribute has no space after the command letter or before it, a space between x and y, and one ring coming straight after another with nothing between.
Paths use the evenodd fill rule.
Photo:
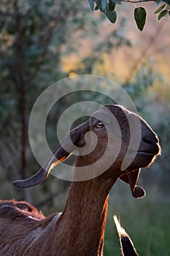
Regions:
<instances>
[{"instance_id":1,"label":"brown goat's whole raised head including both floppy ears","mask_svg":"<svg viewBox=\"0 0 170 256\"><path fill-rule=\"evenodd\" d=\"M105 105L66 135L38 173L12 184L32 187L41 183L75 149L79 151L75 181L119 177L130 184L136 198L144 196L144 189L136 186L140 168L149 166L161 151L157 135L140 116L120 105Z\"/></svg>"}]
</instances>

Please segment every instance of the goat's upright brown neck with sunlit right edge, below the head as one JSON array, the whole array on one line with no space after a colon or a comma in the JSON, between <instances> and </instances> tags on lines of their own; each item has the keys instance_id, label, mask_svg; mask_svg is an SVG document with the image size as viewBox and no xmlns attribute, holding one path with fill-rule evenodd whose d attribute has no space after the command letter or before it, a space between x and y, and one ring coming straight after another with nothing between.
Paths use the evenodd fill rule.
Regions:
<instances>
[{"instance_id":1,"label":"goat's upright brown neck with sunlit right edge, below the head","mask_svg":"<svg viewBox=\"0 0 170 256\"><path fill-rule=\"evenodd\" d=\"M63 255L103 255L108 195L114 183L113 178L104 182L99 177L72 182L66 208L58 222L62 226L59 240L65 251Z\"/></svg>"}]
</instances>

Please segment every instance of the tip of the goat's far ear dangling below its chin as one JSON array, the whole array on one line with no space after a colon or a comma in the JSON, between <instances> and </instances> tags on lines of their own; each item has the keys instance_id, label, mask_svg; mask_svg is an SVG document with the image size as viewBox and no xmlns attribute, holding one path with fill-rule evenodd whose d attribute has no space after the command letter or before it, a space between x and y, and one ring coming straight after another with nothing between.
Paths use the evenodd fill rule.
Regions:
<instances>
[{"instance_id":1,"label":"tip of the goat's far ear dangling below its chin","mask_svg":"<svg viewBox=\"0 0 170 256\"><path fill-rule=\"evenodd\" d=\"M131 193L135 198L141 198L146 195L144 189L136 185L139 178L140 169L134 170L134 172L126 173L120 176L119 178L122 181L128 183L131 187Z\"/></svg>"}]
</instances>

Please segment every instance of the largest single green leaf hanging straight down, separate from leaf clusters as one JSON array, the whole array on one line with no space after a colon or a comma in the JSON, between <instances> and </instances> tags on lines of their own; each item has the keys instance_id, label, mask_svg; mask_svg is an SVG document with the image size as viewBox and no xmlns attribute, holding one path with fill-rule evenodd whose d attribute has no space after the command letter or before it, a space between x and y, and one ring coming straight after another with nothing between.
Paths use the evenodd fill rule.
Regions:
<instances>
[{"instance_id":1,"label":"largest single green leaf hanging straight down, separate from leaf clusters","mask_svg":"<svg viewBox=\"0 0 170 256\"><path fill-rule=\"evenodd\" d=\"M147 12L143 7L137 7L134 10L134 19L138 26L138 29L142 31L144 29L144 24L146 22Z\"/></svg>"}]
</instances>

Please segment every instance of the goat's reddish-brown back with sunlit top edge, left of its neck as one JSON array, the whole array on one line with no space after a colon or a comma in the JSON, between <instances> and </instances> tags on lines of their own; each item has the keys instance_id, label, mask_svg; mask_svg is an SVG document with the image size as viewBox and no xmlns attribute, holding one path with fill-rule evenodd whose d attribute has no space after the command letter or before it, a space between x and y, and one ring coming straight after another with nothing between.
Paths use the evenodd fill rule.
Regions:
<instances>
[{"instance_id":1,"label":"goat's reddish-brown back with sunlit top edge, left of its neck","mask_svg":"<svg viewBox=\"0 0 170 256\"><path fill-rule=\"evenodd\" d=\"M36 250L50 235L56 217L58 214L46 218L25 201L0 200L0 255L39 255Z\"/></svg>"}]
</instances>

